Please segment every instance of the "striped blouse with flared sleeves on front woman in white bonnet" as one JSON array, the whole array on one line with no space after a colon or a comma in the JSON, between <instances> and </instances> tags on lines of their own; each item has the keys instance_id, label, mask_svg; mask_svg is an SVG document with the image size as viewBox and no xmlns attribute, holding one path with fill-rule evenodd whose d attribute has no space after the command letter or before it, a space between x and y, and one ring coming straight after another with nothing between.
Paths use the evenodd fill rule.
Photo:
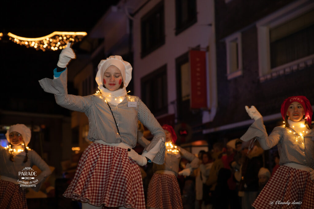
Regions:
<instances>
[{"instance_id":1,"label":"striped blouse with flared sleeves on front woman in white bonnet","mask_svg":"<svg viewBox=\"0 0 314 209\"><path fill-rule=\"evenodd\" d=\"M44 78L39 81L45 92L55 95L58 105L69 110L84 112L88 117L89 131L87 138L94 142L103 140L106 143L125 143L135 147L137 143L138 120L154 135L151 143L145 147L143 155L153 159L154 163L163 164L165 158L165 133L149 111L147 106L136 96L127 95L117 106L105 102L101 94L76 96L68 94L68 70L56 79ZM118 134L114 118L108 107L110 105L119 129ZM157 144L160 149L157 154L150 155L149 151ZM158 145L157 145L158 146Z\"/></svg>"}]
</instances>

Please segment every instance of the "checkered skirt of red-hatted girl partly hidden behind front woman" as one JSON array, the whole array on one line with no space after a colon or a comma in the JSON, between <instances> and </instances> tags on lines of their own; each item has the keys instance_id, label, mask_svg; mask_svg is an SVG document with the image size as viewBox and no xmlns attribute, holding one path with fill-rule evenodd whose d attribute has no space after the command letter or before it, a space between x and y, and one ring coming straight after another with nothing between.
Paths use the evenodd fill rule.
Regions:
<instances>
[{"instance_id":1,"label":"checkered skirt of red-hatted girl partly hidden behind front woman","mask_svg":"<svg viewBox=\"0 0 314 209\"><path fill-rule=\"evenodd\" d=\"M148 185L147 206L163 209L183 208L176 176L154 173Z\"/></svg>"}]
</instances>

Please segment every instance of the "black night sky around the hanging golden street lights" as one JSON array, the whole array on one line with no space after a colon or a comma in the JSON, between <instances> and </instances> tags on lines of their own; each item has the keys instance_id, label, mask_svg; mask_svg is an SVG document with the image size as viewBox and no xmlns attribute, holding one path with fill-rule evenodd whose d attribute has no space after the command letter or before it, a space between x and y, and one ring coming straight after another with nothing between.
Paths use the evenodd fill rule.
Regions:
<instances>
[{"instance_id":1,"label":"black night sky around the hanging golden street lights","mask_svg":"<svg viewBox=\"0 0 314 209\"><path fill-rule=\"evenodd\" d=\"M41 89L38 80L45 77L52 78L52 70L55 68L60 54L60 50L43 52L20 46L9 40L5 34L11 32L22 37L37 38L54 31L85 31L89 33L107 8L110 5L116 5L118 1L88 2L88 4L80 4L71 1L72 4L69 5L61 1L59 5L53 5L56 3L55 1L23 5L1 3L0 33L3 33L4 36L0 40L2 75L0 109L9 110L7 101L12 99L20 99L20 102L53 99L52 94L45 93ZM34 106L34 103L32 104ZM13 110L18 109L13 108ZM29 111L36 111L36 108L30 108Z\"/></svg>"}]
</instances>

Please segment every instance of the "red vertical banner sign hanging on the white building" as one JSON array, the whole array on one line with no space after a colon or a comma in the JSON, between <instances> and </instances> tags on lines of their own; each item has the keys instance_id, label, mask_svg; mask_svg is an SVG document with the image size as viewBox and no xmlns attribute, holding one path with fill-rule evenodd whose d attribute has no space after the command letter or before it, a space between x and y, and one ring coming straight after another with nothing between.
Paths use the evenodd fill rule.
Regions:
<instances>
[{"instance_id":1,"label":"red vertical banner sign hanging on the white building","mask_svg":"<svg viewBox=\"0 0 314 209\"><path fill-rule=\"evenodd\" d=\"M191 69L191 108L207 108L206 51L189 52Z\"/></svg>"}]
</instances>

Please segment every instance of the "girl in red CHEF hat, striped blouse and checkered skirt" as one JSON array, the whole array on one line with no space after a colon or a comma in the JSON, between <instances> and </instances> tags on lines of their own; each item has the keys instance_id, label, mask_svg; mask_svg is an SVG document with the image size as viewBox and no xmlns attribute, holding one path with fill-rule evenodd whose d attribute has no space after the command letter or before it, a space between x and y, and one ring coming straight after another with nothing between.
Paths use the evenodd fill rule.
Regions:
<instances>
[{"instance_id":1,"label":"girl in red CHEF hat, striped blouse and checkered skirt","mask_svg":"<svg viewBox=\"0 0 314 209\"><path fill-rule=\"evenodd\" d=\"M245 108L255 121L241 140L247 142L255 137L264 150L277 145L281 165L252 206L263 209L313 208L314 142L311 139L314 128L311 126L310 101L305 96L285 99L280 111L285 125L275 127L269 135L257 109L254 106Z\"/></svg>"}]
</instances>

